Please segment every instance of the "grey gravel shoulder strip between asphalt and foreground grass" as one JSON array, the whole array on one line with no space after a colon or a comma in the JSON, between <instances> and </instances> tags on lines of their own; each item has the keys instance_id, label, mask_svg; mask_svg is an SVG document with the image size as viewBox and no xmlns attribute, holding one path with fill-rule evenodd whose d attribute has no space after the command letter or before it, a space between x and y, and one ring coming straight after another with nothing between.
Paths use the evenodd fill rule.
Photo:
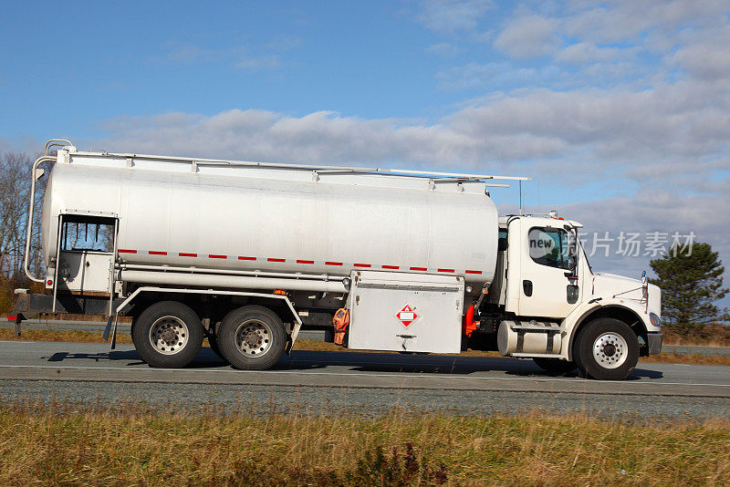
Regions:
<instances>
[{"instance_id":1,"label":"grey gravel shoulder strip between asphalt and foreground grass","mask_svg":"<svg viewBox=\"0 0 730 487\"><path fill-rule=\"evenodd\" d=\"M673 420L730 418L728 398L614 396L610 394L512 391L348 389L252 385L150 384L136 382L63 382L5 380L0 400L27 399L63 409L94 406L142 409L215 410L289 414L354 413L380 416L397 409L403 414L516 414L544 410L554 414L584 413L602 419ZM171 409L172 408L172 409Z\"/></svg>"}]
</instances>

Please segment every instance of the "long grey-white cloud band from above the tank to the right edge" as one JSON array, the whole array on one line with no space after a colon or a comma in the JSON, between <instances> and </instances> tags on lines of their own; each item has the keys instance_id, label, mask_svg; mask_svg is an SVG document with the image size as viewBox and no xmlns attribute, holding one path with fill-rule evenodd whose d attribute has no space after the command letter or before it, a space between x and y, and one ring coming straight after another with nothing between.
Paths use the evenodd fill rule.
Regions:
<instances>
[{"instance_id":1,"label":"long grey-white cloud band from above the tank to the right edge","mask_svg":"<svg viewBox=\"0 0 730 487\"><path fill-rule=\"evenodd\" d=\"M303 117L250 109L211 117L172 113L112 120L109 137L99 143L148 152L479 171L491 161L520 171L559 162L562 171L578 175L666 181L728 169L717 163L730 154L726 92L726 84L696 80L643 90L536 88L474 100L432 123L328 111Z\"/></svg>"}]
</instances>

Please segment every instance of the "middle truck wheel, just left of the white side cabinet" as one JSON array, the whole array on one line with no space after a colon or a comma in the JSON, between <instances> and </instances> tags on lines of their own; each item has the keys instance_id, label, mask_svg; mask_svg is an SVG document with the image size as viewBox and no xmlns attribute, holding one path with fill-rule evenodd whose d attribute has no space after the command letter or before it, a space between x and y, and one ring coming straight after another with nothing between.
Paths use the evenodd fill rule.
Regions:
<instances>
[{"instance_id":1,"label":"middle truck wheel, just left of the white side cabinet","mask_svg":"<svg viewBox=\"0 0 730 487\"><path fill-rule=\"evenodd\" d=\"M264 306L243 306L228 313L217 339L223 357L244 370L274 367L287 345L284 323Z\"/></svg>"}]
</instances>

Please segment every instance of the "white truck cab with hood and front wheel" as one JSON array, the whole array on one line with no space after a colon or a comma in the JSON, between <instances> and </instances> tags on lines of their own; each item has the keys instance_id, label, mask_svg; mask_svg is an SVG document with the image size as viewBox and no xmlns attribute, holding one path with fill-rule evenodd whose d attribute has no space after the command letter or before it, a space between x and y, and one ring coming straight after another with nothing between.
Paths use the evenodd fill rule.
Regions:
<instances>
[{"instance_id":1,"label":"white truck cab with hood and front wheel","mask_svg":"<svg viewBox=\"0 0 730 487\"><path fill-rule=\"evenodd\" d=\"M547 216L499 219L495 282L477 314L500 352L561 371L624 378L640 355L662 347L661 290L591 269L582 224Z\"/></svg>"}]
</instances>

